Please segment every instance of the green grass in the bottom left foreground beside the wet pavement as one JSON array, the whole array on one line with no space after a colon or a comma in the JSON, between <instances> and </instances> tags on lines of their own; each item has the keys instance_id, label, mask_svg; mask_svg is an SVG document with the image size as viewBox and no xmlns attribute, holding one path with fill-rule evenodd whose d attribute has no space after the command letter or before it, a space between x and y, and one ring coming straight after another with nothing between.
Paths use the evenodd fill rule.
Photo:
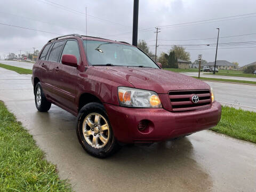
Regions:
<instances>
[{"instance_id":1,"label":"green grass in the bottom left foreground beside the wet pavement","mask_svg":"<svg viewBox=\"0 0 256 192\"><path fill-rule=\"evenodd\" d=\"M0 191L71 191L55 165L0 101Z\"/></svg>"}]
</instances>

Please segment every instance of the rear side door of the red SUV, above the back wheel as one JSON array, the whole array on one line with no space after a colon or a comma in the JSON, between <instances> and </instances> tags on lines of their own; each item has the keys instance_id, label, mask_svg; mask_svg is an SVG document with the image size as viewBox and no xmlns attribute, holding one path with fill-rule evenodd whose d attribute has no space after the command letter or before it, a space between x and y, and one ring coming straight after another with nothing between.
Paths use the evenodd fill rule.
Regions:
<instances>
[{"instance_id":1,"label":"rear side door of the red SUV, above the back wheel","mask_svg":"<svg viewBox=\"0 0 256 192\"><path fill-rule=\"evenodd\" d=\"M47 58L47 69L49 73L47 73L47 81L45 81L45 86L47 90L49 90L49 97L51 100L58 102L58 84L60 83L59 79L56 77L56 74L59 73L59 62L60 62L60 54L63 49L63 46L66 41L58 41L55 42L52 47L50 54Z\"/></svg>"}]
</instances>

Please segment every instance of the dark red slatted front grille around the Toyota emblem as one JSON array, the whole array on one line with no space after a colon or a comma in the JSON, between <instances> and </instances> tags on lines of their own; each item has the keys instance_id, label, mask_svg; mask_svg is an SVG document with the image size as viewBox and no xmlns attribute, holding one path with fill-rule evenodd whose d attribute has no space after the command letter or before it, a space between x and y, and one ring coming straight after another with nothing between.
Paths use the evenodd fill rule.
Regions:
<instances>
[{"instance_id":1,"label":"dark red slatted front grille around the Toyota emblem","mask_svg":"<svg viewBox=\"0 0 256 192\"><path fill-rule=\"evenodd\" d=\"M197 103L192 102L193 95L197 95ZM169 98L173 111L194 110L211 106L211 93L209 90L170 91Z\"/></svg>"}]
</instances>

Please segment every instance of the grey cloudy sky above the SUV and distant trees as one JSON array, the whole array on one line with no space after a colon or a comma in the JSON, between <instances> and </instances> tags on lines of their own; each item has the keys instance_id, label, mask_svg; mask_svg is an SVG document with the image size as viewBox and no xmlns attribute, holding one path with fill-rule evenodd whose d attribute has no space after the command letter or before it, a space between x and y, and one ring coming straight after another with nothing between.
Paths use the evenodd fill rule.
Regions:
<instances>
[{"instance_id":1,"label":"grey cloudy sky above the SUV and distant trees","mask_svg":"<svg viewBox=\"0 0 256 192\"><path fill-rule=\"evenodd\" d=\"M132 43L133 0L2 0L1 58L19 50L33 52L32 47L41 50L61 34L85 35L85 7L87 35ZM154 31L159 27L158 55L176 44L190 52L191 61L198 54L214 61L216 28L220 28L217 59L243 66L256 61L255 23L255 0L140 0L138 39L144 39L154 52Z\"/></svg>"}]
</instances>

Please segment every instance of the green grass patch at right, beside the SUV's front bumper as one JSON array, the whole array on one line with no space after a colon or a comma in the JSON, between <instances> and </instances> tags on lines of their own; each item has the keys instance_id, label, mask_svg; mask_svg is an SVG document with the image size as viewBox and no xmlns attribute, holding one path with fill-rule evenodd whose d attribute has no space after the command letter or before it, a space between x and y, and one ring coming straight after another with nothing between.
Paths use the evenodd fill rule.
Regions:
<instances>
[{"instance_id":1,"label":"green grass patch at right, beside the SUV's front bumper","mask_svg":"<svg viewBox=\"0 0 256 192\"><path fill-rule=\"evenodd\" d=\"M222 107L221 120L211 130L256 143L256 113L233 107Z\"/></svg>"}]
</instances>

